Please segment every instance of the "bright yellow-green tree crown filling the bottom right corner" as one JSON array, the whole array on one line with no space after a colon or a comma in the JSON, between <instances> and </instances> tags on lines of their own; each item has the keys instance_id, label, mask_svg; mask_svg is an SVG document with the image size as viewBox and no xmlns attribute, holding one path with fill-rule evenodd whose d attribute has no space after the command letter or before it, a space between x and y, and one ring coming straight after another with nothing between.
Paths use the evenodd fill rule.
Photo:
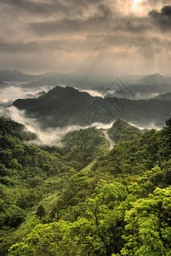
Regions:
<instances>
[{"instance_id":1,"label":"bright yellow-green tree crown filling the bottom right corner","mask_svg":"<svg viewBox=\"0 0 171 256\"><path fill-rule=\"evenodd\" d=\"M125 214L128 235L122 255L171 255L171 187L156 189Z\"/></svg>"}]
</instances>

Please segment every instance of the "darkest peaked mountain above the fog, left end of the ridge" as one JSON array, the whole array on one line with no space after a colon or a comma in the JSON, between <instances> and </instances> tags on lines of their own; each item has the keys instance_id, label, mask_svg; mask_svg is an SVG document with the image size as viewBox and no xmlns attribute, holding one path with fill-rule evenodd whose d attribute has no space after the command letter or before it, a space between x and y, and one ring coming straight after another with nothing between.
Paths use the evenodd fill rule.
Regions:
<instances>
[{"instance_id":1,"label":"darkest peaked mountain above the fog, left end of the ridge","mask_svg":"<svg viewBox=\"0 0 171 256\"><path fill-rule=\"evenodd\" d=\"M46 126L73 125L79 122L79 112L87 108L94 98L72 87L56 86L37 99L16 100L14 106L26 109L27 116L37 118Z\"/></svg>"}]
</instances>

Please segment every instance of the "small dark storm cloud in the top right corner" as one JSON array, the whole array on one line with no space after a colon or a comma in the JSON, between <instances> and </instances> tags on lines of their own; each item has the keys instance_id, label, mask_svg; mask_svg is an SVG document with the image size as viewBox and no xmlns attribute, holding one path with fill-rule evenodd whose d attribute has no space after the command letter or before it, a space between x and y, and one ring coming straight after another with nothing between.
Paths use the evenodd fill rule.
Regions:
<instances>
[{"instance_id":1,"label":"small dark storm cloud in the top right corner","mask_svg":"<svg viewBox=\"0 0 171 256\"><path fill-rule=\"evenodd\" d=\"M171 6L162 7L161 11L152 10L149 16L162 31L171 32Z\"/></svg>"}]
</instances>

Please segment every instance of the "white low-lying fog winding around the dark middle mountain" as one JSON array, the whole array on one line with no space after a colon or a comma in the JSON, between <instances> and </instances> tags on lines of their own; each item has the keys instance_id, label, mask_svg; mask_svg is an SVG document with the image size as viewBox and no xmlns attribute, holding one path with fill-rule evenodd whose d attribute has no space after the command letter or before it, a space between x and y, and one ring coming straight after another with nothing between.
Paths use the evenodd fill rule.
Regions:
<instances>
[{"instance_id":1,"label":"white low-lying fog winding around the dark middle mountain","mask_svg":"<svg viewBox=\"0 0 171 256\"><path fill-rule=\"evenodd\" d=\"M19 84L18 84L19 85ZM26 118L25 111L19 110L18 108L15 108L14 106L4 108L8 105L10 105L14 100L18 98L27 98L27 97L37 97L40 96L40 92L44 91L47 92L48 90L52 89L54 86L43 86L38 89L29 89L29 88L22 88L20 86L14 86L9 85L7 87L3 87L0 89L0 116L6 116L14 121L23 124L26 126L27 131L31 131L37 135L37 140L33 141L31 143L35 143L38 145L48 145L48 146L60 146L61 145L61 139L66 135L66 133L70 131L78 131L80 129L86 129L88 127L94 127L96 126L97 129L105 129L108 130L111 128L110 124L102 124L102 123L94 123L89 126L80 126L80 125L71 125L66 127L56 127L56 128L48 128L48 129L42 129L40 125L37 123L36 119L28 119ZM65 87L65 85L63 85ZM78 89L77 89L78 90ZM98 90L81 90L81 91L87 91L91 96L101 96L104 97L103 93L100 93ZM134 125L134 124L131 124ZM136 125L137 126L137 125ZM151 125L144 125L138 126L141 130L143 129L160 129L160 127L157 127L155 124Z\"/></svg>"}]
</instances>

